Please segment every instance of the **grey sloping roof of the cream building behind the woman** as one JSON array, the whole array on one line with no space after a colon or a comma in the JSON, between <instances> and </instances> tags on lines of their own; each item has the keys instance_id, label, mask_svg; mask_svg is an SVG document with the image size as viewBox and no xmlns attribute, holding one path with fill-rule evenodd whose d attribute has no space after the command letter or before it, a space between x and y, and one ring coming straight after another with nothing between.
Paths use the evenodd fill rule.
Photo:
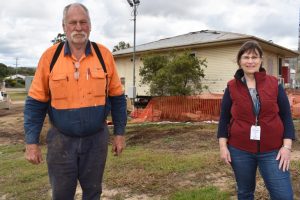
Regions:
<instances>
[{"instance_id":1,"label":"grey sloping roof of the cream building behind the woman","mask_svg":"<svg viewBox=\"0 0 300 200\"><path fill-rule=\"evenodd\" d=\"M190 32L183 35L178 35L175 37L164 38L158 41L141 44L136 46L136 52L144 52L151 50L162 50L162 49L170 49L170 48L180 48L186 46L193 45L203 45L210 43L220 43L220 42L232 42L246 39L256 39L261 42L267 43L271 46L276 46L277 48L283 48L285 51L292 51L290 49L286 49L282 46L276 45L272 42L263 40L261 38L257 38L252 35L240 34L240 33L232 33L232 32L224 32L224 31L215 31L215 30L201 30L196 32ZM113 52L114 56L121 56L130 54L133 52L133 48L122 49L116 52ZM295 52L294 52L295 53Z\"/></svg>"}]
</instances>

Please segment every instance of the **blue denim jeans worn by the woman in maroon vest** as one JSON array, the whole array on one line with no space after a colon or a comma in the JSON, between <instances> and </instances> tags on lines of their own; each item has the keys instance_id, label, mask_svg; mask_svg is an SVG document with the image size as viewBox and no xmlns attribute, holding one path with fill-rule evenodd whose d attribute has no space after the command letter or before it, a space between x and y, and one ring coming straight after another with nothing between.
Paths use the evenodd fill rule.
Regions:
<instances>
[{"instance_id":1,"label":"blue denim jeans worn by the woman in maroon vest","mask_svg":"<svg viewBox=\"0 0 300 200\"><path fill-rule=\"evenodd\" d=\"M256 169L265 182L272 200L293 200L293 189L289 171L278 169L277 151L249 153L228 145L237 182L239 200L253 200L256 184Z\"/></svg>"}]
</instances>

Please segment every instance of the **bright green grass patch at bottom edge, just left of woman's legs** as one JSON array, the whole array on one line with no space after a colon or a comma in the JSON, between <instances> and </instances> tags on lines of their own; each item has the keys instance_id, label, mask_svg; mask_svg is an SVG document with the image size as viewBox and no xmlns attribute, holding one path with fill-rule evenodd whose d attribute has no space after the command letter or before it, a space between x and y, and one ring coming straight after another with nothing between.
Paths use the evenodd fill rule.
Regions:
<instances>
[{"instance_id":1,"label":"bright green grass patch at bottom edge, just left of woman's legs","mask_svg":"<svg viewBox=\"0 0 300 200\"><path fill-rule=\"evenodd\" d=\"M178 191L170 196L169 200L228 200L229 193L221 192L216 187Z\"/></svg>"}]
</instances>

